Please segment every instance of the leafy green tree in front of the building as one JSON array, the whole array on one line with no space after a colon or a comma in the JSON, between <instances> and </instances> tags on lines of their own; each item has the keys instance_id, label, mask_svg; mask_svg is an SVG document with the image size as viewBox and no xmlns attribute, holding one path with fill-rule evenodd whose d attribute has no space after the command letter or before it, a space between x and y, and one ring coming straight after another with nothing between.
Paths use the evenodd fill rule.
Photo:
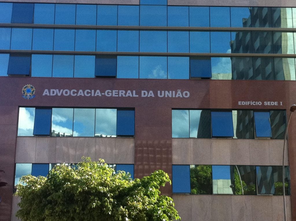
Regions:
<instances>
[{"instance_id":1,"label":"leafy green tree in front of the building","mask_svg":"<svg viewBox=\"0 0 296 221\"><path fill-rule=\"evenodd\" d=\"M85 158L77 167L61 164L46 177L23 176L17 192L21 220L181 220L173 200L160 195L170 182L162 170L132 180L100 159Z\"/></svg>"}]
</instances>

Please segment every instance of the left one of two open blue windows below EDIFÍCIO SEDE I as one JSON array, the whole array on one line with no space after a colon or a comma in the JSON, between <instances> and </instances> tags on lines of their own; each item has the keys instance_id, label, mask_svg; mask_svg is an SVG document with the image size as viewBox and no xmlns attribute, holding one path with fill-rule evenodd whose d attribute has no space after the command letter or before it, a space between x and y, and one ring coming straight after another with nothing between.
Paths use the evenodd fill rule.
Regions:
<instances>
[{"instance_id":1,"label":"left one of two open blue windows below EDIF\u00cdCIO SEDE I","mask_svg":"<svg viewBox=\"0 0 296 221\"><path fill-rule=\"evenodd\" d=\"M211 111L212 136L213 137L233 137L232 112Z\"/></svg>"}]
</instances>

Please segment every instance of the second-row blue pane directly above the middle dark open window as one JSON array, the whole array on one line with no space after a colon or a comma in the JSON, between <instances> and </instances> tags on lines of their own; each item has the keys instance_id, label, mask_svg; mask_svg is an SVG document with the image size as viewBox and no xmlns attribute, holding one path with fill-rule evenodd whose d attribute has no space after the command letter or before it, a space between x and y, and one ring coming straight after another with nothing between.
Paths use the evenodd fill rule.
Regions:
<instances>
[{"instance_id":1,"label":"second-row blue pane directly above the middle dark open window","mask_svg":"<svg viewBox=\"0 0 296 221\"><path fill-rule=\"evenodd\" d=\"M116 51L117 30L96 31L96 51Z\"/></svg>"}]
</instances>

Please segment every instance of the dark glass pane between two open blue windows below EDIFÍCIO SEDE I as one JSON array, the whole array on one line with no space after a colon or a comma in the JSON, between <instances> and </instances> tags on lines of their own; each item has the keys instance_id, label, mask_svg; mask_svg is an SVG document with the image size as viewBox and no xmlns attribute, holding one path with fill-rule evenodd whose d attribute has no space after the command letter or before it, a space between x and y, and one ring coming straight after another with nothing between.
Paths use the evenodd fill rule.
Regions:
<instances>
[{"instance_id":1,"label":"dark glass pane between two open blue windows below EDIF\u00cdCIO SEDE I","mask_svg":"<svg viewBox=\"0 0 296 221\"><path fill-rule=\"evenodd\" d=\"M233 110L232 122L234 137L239 139L254 139L254 114L251 110Z\"/></svg>"}]
</instances>

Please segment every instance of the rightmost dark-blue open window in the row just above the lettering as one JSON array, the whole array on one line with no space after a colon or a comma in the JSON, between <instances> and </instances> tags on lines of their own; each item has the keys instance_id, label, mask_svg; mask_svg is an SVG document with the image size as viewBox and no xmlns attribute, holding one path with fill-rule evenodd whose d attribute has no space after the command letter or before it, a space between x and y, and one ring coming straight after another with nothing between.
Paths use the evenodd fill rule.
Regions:
<instances>
[{"instance_id":1,"label":"rightmost dark-blue open window in the row just above the lettering","mask_svg":"<svg viewBox=\"0 0 296 221\"><path fill-rule=\"evenodd\" d=\"M190 57L190 77L191 78L211 78L211 58L210 57Z\"/></svg>"}]
</instances>

